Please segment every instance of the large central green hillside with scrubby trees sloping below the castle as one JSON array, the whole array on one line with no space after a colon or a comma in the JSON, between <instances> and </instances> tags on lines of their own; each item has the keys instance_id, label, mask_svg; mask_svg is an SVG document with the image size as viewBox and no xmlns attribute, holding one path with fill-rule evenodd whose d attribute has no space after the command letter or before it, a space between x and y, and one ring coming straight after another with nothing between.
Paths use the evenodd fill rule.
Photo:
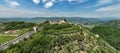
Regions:
<instances>
[{"instance_id":1,"label":"large central green hillside with scrubby trees sloping below the castle","mask_svg":"<svg viewBox=\"0 0 120 53\"><path fill-rule=\"evenodd\" d=\"M0 53L117 53L99 35L74 24L46 24L44 29Z\"/></svg>"}]
</instances>

